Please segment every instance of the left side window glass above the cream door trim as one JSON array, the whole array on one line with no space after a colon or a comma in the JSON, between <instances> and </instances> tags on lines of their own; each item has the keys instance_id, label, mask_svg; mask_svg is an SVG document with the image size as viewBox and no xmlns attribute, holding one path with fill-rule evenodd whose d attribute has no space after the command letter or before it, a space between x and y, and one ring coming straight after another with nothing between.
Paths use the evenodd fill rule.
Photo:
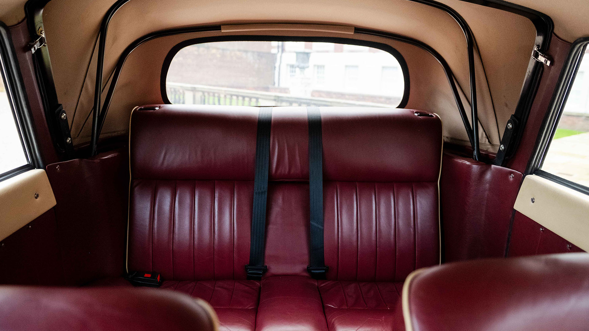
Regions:
<instances>
[{"instance_id":1,"label":"left side window glass above the cream door trim","mask_svg":"<svg viewBox=\"0 0 589 331\"><path fill-rule=\"evenodd\" d=\"M0 180L22 168L30 166L29 157L25 150L19 130L15 106L9 93L6 80L5 59L0 58L2 84L0 85Z\"/></svg>"}]
</instances>

